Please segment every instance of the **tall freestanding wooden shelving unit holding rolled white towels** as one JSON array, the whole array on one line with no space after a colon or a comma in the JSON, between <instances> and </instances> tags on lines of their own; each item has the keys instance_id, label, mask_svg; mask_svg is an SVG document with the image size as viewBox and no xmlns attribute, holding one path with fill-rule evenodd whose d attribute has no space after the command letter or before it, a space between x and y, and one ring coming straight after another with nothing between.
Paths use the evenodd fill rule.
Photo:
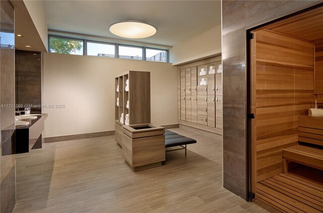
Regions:
<instances>
[{"instance_id":1,"label":"tall freestanding wooden shelving unit holding rolled white towels","mask_svg":"<svg viewBox=\"0 0 323 213\"><path fill-rule=\"evenodd\" d=\"M115 84L115 135L122 146L122 125L150 123L150 72L128 71L117 76Z\"/></svg>"}]
</instances>

